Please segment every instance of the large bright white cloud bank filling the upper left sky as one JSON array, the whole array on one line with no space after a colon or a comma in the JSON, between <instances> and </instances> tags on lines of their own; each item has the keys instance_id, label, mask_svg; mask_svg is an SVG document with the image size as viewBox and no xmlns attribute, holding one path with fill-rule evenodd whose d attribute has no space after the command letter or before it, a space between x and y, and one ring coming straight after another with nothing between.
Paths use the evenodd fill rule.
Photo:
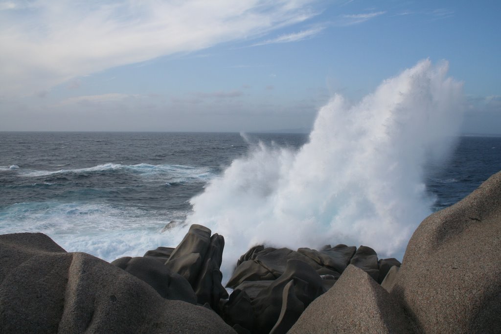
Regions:
<instances>
[{"instance_id":1,"label":"large bright white cloud bank filling the upper left sky","mask_svg":"<svg viewBox=\"0 0 501 334\"><path fill-rule=\"evenodd\" d=\"M28 8L3 1L0 95L32 94L111 67L263 36L314 17L315 2L34 0Z\"/></svg>"}]
</instances>

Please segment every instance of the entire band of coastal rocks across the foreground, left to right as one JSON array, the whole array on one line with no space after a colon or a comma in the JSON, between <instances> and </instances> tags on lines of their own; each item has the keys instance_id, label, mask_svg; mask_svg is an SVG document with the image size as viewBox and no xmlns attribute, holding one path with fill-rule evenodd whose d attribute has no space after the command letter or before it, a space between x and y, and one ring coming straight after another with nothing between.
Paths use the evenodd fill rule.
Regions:
<instances>
[{"instance_id":1,"label":"entire band of coastal rocks across the foreground, left to right","mask_svg":"<svg viewBox=\"0 0 501 334\"><path fill-rule=\"evenodd\" d=\"M201 225L115 265L41 233L0 235L0 332L499 332L499 245L501 172L426 218L401 265L367 246L260 245L229 299L224 239Z\"/></svg>"}]
</instances>

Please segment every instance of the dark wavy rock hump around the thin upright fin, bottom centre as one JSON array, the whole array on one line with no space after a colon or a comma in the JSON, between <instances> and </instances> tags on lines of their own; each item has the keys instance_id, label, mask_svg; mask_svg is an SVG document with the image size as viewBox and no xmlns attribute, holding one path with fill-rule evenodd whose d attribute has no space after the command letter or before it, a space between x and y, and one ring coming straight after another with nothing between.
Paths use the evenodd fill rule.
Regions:
<instances>
[{"instance_id":1,"label":"dark wavy rock hump around the thin upright fin, bottom centre","mask_svg":"<svg viewBox=\"0 0 501 334\"><path fill-rule=\"evenodd\" d=\"M285 272L252 301L256 316L254 325L256 332L267 333L275 326L282 313L284 288L290 282L292 286L289 289L293 289L290 293L294 293L295 296L290 296L289 307L295 310L300 308L298 302L306 308L310 302L325 292L322 279L308 263L294 258L289 259ZM287 302L285 305L284 307L287 307ZM286 322L291 323L291 314L296 312L286 309L284 313L287 313Z\"/></svg>"}]
</instances>

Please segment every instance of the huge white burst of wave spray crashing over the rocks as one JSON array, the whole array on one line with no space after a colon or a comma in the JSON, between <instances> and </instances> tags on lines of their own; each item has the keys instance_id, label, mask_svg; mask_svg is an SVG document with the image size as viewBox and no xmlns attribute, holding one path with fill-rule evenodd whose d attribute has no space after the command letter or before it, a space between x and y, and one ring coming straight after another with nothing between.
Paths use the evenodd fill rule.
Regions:
<instances>
[{"instance_id":1,"label":"huge white burst of wave spray crashing over the rocks","mask_svg":"<svg viewBox=\"0 0 501 334\"><path fill-rule=\"evenodd\" d=\"M358 103L335 95L299 151L260 143L212 179L187 222L225 237L225 275L262 243L363 244L401 258L431 213L423 166L447 155L462 119L462 84L447 69L424 60Z\"/></svg>"}]
</instances>

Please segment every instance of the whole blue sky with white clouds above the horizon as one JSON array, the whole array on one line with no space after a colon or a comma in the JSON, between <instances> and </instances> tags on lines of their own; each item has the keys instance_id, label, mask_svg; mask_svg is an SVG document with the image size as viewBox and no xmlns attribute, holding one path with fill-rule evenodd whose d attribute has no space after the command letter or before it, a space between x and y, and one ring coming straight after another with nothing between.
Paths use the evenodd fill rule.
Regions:
<instances>
[{"instance_id":1,"label":"whole blue sky with white clouds above the horizon","mask_svg":"<svg viewBox=\"0 0 501 334\"><path fill-rule=\"evenodd\" d=\"M310 129L422 59L501 133L501 1L0 0L0 131Z\"/></svg>"}]
</instances>

